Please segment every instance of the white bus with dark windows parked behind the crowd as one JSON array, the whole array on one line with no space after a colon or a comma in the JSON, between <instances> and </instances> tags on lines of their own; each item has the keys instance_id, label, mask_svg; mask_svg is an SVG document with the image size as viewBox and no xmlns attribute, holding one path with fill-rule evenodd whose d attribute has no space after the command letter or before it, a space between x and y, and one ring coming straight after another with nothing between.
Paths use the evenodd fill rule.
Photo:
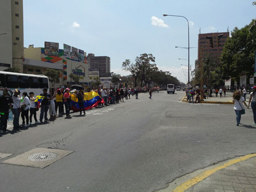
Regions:
<instances>
[{"instance_id":1,"label":"white bus with dark windows parked behind the crowd","mask_svg":"<svg viewBox=\"0 0 256 192\"><path fill-rule=\"evenodd\" d=\"M19 89L21 92L34 92L35 96L47 88L49 93L49 79L45 75L32 75L24 73L12 73L0 71L0 87L10 89L14 92Z\"/></svg>"}]
</instances>

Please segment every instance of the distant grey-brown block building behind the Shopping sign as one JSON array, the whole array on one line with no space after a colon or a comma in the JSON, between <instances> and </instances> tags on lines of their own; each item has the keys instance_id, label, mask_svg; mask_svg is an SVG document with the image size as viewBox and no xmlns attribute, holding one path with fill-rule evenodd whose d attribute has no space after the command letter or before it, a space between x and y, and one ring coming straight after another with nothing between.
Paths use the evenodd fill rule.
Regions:
<instances>
[{"instance_id":1,"label":"distant grey-brown block building behind the Shopping sign","mask_svg":"<svg viewBox=\"0 0 256 192\"><path fill-rule=\"evenodd\" d=\"M99 69L100 77L110 77L110 57L108 56L95 56L89 53L87 56L90 69Z\"/></svg>"}]
</instances>

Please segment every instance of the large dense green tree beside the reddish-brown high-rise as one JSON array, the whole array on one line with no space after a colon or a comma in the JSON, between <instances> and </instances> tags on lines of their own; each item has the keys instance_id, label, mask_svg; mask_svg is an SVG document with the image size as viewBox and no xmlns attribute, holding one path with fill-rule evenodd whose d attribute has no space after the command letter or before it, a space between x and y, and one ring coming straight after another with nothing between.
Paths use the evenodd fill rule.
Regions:
<instances>
[{"instance_id":1,"label":"large dense green tree beside the reddish-brown high-rise","mask_svg":"<svg viewBox=\"0 0 256 192\"><path fill-rule=\"evenodd\" d=\"M247 77L253 75L254 54L256 50L256 33L251 33L255 19L244 28L237 27L226 40L220 58L220 70L223 80L239 76L246 71Z\"/></svg>"}]
</instances>

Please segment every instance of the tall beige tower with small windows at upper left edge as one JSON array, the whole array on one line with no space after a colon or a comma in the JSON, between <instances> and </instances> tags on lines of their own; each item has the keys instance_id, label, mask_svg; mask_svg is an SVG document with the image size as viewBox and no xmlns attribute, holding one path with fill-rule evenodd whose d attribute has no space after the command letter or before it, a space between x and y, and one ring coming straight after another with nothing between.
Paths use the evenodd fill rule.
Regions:
<instances>
[{"instance_id":1,"label":"tall beige tower with small windows at upper left edge","mask_svg":"<svg viewBox=\"0 0 256 192\"><path fill-rule=\"evenodd\" d=\"M0 70L18 68L23 72L23 0L0 1Z\"/></svg>"}]
</instances>

